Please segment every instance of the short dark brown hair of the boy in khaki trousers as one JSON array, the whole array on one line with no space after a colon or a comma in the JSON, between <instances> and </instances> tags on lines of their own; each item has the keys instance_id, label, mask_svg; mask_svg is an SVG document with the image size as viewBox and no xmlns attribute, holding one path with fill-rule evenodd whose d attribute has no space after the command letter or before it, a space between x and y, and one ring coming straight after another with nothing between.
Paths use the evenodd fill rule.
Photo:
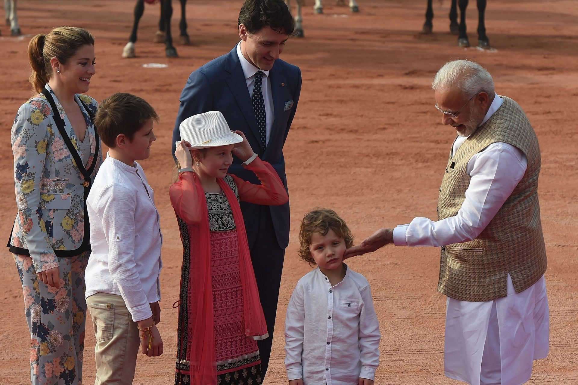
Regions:
<instances>
[{"instance_id":1,"label":"short dark brown hair of the boy in khaki trousers","mask_svg":"<svg viewBox=\"0 0 578 385\"><path fill-rule=\"evenodd\" d=\"M114 148L118 135L125 134L132 141L135 132L149 119L158 122L158 115L146 100L127 92L117 92L102 100L94 125L102 141Z\"/></svg>"}]
</instances>

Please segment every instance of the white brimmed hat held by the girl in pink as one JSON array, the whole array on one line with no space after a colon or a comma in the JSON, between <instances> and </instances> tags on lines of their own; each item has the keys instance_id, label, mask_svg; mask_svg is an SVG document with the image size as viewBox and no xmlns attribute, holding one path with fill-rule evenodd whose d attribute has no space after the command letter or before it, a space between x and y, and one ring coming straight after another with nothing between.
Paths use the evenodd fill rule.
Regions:
<instances>
[{"instance_id":1,"label":"white brimmed hat held by the girl in pink","mask_svg":"<svg viewBox=\"0 0 578 385\"><path fill-rule=\"evenodd\" d=\"M239 134L231 132L223 114L209 111L192 115L179 125L181 139L188 141L192 149L219 147L243 141Z\"/></svg>"}]
</instances>

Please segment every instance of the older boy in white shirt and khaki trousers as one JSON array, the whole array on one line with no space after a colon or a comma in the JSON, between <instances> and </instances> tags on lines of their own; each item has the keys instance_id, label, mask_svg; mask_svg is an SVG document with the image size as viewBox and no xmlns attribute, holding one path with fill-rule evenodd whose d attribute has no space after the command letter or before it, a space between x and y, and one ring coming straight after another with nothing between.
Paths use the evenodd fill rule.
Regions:
<instances>
[{"instance_id":1,"label":"older boy in white shirt and khaki trousers","mask_svg":"<svg viewBox=\"0 0 578 385\"><path fill-rule=\"evenodd\" d=\"M109 152L87 199L92 253L86 301L97 338L95 384L132 384L139 346L162 354L162 234L153 189L136 160L149 158L158 115L145 100L117 93L102 101L95 125Z\"/></svg>"}]
</instances>

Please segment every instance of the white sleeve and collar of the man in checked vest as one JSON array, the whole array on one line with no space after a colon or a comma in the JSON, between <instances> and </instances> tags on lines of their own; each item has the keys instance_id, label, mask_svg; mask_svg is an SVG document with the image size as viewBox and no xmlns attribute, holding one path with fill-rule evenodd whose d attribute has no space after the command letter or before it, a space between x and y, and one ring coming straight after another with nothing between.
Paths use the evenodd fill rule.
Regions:
<instances>
[{"instance_id":1,"label":"white sleeve and collar of the man in checked vest","mask_svg":"<svg viewBox=\"0 0 578 385\"><path fill-rule=\"evenodd\" d=\"M482 124L502 103L495 94ZM452 156L466 139L455 140ZM524 177L527 167L528 159L519 148L503 142L488 145L468 161L466 170L472 179L458 214L437 221L417 217L407 225L399 225L394 229L394 244L439 247L477 238Z\"/></svg>"}]
</instances>

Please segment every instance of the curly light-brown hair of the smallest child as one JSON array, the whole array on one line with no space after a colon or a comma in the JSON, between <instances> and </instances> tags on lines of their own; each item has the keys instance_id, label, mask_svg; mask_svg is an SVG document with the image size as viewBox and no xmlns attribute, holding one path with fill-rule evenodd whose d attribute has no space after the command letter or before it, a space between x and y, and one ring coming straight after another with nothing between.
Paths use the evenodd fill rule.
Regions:
<instances>
[{"instance_id":1,"label":"curly light-brown hair of the smallest child","mask_svg":"<svg viewBox=\"0 0 578 385\"><path fill-rule=\"evenodd\" d=\"M335 211L329 208L316 208L313 211L307 212L307 214L303 216L303 222L301 222L298 250L301 260L309 262L310 266L316 264L309 251L311 236L313 233L319 233L325 236L330 229L335 231L335 234L340 238L343 238L347 249L353 246L353 236L345 221L340 218Z\"/></svg>"}]
</instances>

